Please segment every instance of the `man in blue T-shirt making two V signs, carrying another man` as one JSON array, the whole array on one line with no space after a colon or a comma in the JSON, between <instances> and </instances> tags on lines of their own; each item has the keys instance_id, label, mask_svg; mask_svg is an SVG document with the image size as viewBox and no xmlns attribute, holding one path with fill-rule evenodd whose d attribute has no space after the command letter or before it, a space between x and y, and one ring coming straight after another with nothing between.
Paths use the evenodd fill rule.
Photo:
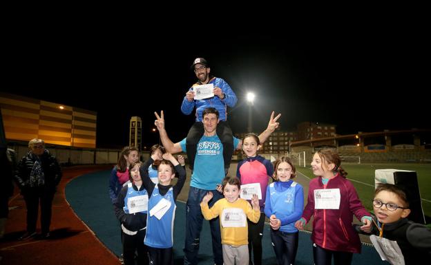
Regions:
<instances>
[{"instance_id":1,"label":"man in blue T-shirt making two V signs, carrying another man","mask_svg":"<svg viewBox=\"0 0 431 265\"><path fill-rule=\"evenodd\" d=\"M164 113L154 113L157 120L154 124L160 133L160 140L168 153L180 153L187 151L186 138L180 142L172 142L169 138L164 123ZM261 143L278 128L280 123L277 122L281 114L274 117L274 112L271 113L267 129L262 131L259 135ZM204 216L200 209L200 202L202 198L209 191L213 193L213 198L209 201L209 207L213 206L215 202L220 200L222 196L222 180L224 178L223 170L223 145L220 138L215 134L217 127L220 125L220 116L218 110L209 107L202 112L202 126L204 127L204 135L198 141L195 147L196 152L195 170L191 175L189 196L186 202L186 238L184 244L184 265L198 264L198 252L200 247L200 232L202 231L202 222ZM242 141L238 138L231 136L233 146L236 149L242 147ZM232 150L233 151L233 147ZM219 219L215 218L209 221L211 229L211 241L213 245L213 259L214 264L223 264L222 255L222 240L220 235Z\"/></svg>"}]
</instances>

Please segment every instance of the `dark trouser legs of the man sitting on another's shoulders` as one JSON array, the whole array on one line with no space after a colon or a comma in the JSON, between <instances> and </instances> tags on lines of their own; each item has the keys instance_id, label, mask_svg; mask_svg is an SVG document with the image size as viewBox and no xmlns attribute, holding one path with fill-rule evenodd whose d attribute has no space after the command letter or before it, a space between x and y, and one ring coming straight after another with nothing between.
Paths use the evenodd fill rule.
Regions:
<instances>
[{"instance_id":1,"label":"dark trouser legs of the man sitting on another's shoulders","mask_svg":"<svg viewBox=\"0 0 431 265\"><path fill-rule=\"evenodd\" d=\"M204 124L195 122L189 130L186 138L187 158L189 159L189 167L193 170L195 165L196 147L200 138L204 135ZM217 125L217 136L223 144L223 159L224 169L229 169L233 154L233 138L232 129L226 121L221 121ZM225 170L225 173L227 171Z\"/></svg>"}]
</instances>

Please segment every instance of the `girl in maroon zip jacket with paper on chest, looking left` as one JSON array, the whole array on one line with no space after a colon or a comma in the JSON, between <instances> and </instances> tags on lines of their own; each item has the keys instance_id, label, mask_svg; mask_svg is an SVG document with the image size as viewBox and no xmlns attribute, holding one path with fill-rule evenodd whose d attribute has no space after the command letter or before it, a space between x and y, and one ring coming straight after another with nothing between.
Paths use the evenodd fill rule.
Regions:
<instances>
[{"instance_id":1,"label":"girl in maroon zip jacket with paper on chest, looking left","mask_svg":"<svg viewBox=\"0 0 431 265\"><path fill-rule=\"evenodd\" d=\"M353 215L363 222L361 229L370 231L372 219L365 210L341 159L332 149L314 153L312 170L317 178L310 181L308 202L296 228L303 229L314 215L312 242L316 265L351 264L353 253L361 252L361 241L352 227Z\"/></svg>"}]
</instances>

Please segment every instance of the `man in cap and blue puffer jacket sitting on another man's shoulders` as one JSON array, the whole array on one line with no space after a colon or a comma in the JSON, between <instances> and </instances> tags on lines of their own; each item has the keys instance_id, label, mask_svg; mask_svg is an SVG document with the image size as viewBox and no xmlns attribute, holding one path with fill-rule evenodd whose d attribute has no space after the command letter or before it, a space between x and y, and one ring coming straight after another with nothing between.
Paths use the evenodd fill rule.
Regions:
<instances>
[{"instance_id":1,"label":"man in cap and blue puffer jacket sitting on another man's shoulders","mask_svg":"<svg viewBox=\"0 0 431 265\"><path fill-rule=\"evenodd\" d=\"M189 158L189 167L193 170L194 161L196 156L196 145L200 138L204 135L204 127L202 125L202 112L208 107L213 107L218 110L220 114L220 123L217 126L217 135L223 145L223 158L224 158L224 171L227 174L229 166L231 165L231 158L233 153L233 140L232 130L227 124L227 107L234 107L238 98L235 92L231 89L229 84L222 78L210 75L211 68L207 60L204 58L196 58L191 65L191 69L195 72L198 82L196 82L184 96L181 105L181 112L189 115L196 107L195 123L187 134L186 147L187 158ZM195 92L193 87L196 85L213 85L213 97L195 99Z\"/></svg>"}]
</instances>

